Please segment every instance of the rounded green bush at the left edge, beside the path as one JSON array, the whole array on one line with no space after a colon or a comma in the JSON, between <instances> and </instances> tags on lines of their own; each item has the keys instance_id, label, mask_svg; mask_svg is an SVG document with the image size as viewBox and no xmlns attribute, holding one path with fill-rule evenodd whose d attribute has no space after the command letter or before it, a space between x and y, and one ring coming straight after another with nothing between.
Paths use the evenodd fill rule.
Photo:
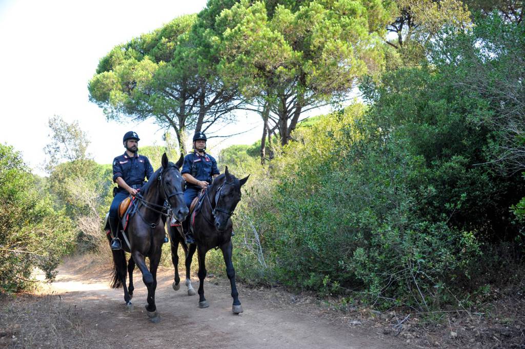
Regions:
<instances>
[{"instance_id":1,"label":"rounded green bush at the left edge, beside the path","mask_svg":"<svg viewBox=\"0 0 525 349\"><path fill-rule=\"evenodd\" d=\"M55 211L20 155L0 144L0 290L27 287L34 268L52 279L74 237L64 211Z\"/></svg>"}]
</instances>

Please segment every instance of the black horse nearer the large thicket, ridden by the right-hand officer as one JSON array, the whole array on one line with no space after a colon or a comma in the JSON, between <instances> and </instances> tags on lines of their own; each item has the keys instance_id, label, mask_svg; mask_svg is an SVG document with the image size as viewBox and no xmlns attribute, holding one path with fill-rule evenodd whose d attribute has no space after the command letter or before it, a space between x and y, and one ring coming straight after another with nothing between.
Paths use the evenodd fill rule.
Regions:
<instances>
[{"instance_id":1,"label":"black horse nearer the large thicket, ridden by the right-hand officer","mask_svg":"<svg viewBox=\"0 0 525 349\"><path fill-rule=\"evenodd\" d=\"M204 278L206 277L206 252L212 248L218 247L223 252L224 262L226 263L226 274L230 280L232 287L233 305L232 311L235 314L243 312L240 305L239 293L235 284L235 269L232 263L232 220L230 217L235 210L235 207L240 201L240 187L248 180L248 176L243 179L237 179L232 174L228 173L228 167L224 174L217 176L213 184L206 190L205 197L201 208L195 215L194 222L194 237L196 244L190 245L188 249L185 244L180 231L175 227L169 227L170 237L172 239L171 255L173 265L175 267L175 282L173 289L180 288L180 278L178 277L178 256L177 248L178 242L184 248L186 253L186 286L188 287L188 294L193 295L195 291L190 281L190 266L195 250L197 250L198 257L198 279L199 279L199 308L207 308L208 302L204 298ZM193 218L191 219L193 220Z\"/></svg>"}]
</instances>

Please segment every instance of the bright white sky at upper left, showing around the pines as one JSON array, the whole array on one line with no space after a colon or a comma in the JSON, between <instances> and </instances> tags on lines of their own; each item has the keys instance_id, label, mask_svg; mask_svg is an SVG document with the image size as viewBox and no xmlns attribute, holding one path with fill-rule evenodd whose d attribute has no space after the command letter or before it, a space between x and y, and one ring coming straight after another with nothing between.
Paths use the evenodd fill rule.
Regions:
<instances>
[{"instance_id":1,"label":"bright white sky at upper left, showing around the pines","mask_svg":"<svg viewBox=\"0 0 525 349\"><path fill-rule=\"evenodd\" d=\"M0 142L21 151L37 174L43 174L47 121L55 114L79 121L98 163L123 153L122 136L129 130L139 134L141 146L163 144L163 131L152 123L108 122L89 102L87 84L114 46L205 5L205 0L0 0ZM257 115L240 117L224 132L258 125ZM208 148L217 154L230 144L251 144L261 127L220 144L212 140Z\"/></svg>"}]
</instances>

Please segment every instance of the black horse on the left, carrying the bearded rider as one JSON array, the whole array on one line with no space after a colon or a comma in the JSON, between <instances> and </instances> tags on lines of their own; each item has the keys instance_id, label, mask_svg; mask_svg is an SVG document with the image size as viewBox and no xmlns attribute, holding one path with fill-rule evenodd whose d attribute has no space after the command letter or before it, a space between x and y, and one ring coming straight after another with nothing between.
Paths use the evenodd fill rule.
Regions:
<instances>
[{"instance_id":1,"label":"black horse on the left, carrying the bearded rider","mask_svg":"<svg viewBox=\"0 0 525 349\"><path fill-rule=\"evenodd\" d=\"M164 202L167 208L178 220L183 221L188 214L184 203L184 179L179 171L184 157L176 164L168 161L166 154L162 155L162 166L150 178L148 183L137 196L138 207L135 214L128 221L128 244L123 244L126 252L131 253L128 265L124 250L113 251L113 280L112 288L121 285L124 288L124 301L128 310L133 309L133 270L135 263L142 272L142 280L148 288L148 305L146 311L152 322L159 322L160 316L155 306L155 289L157 286L156 273L161 258L161 248L164 242L165 213ZM109 237L108 237L109 238ZM145 257L150 258L150 270L146 267ZM126 287L126 269L129 272L129 288Z\"/></svg>"}]
</instances>

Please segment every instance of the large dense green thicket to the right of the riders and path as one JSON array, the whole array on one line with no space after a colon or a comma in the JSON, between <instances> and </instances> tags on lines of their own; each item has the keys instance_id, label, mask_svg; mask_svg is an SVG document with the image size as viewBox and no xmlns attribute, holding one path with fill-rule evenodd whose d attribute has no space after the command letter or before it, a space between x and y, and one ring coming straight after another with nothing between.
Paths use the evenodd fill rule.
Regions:
<instances>
[{"instance_id":1,"label":"large dense green thicket to the right of the riders and path","mask_svg":"<svg viewBox=\"0 0 525 349\"><path fill-rule=\"evenodd\" d=\"M463 34L445 37L453 35ZM253 173L234 218L241 277L428 311L457 305L519 262L518 248L502 256L498 247L523 246L524 182L495 161L508 134L490 123L502 120L491 118L508 96L495 103L461 87L472 56L441 54L443 62L363 80L370 107L304 123L266 167L230 149L224 162ZM502 69L485 58L487 69Z\"/></svg>"}]
</instances>

